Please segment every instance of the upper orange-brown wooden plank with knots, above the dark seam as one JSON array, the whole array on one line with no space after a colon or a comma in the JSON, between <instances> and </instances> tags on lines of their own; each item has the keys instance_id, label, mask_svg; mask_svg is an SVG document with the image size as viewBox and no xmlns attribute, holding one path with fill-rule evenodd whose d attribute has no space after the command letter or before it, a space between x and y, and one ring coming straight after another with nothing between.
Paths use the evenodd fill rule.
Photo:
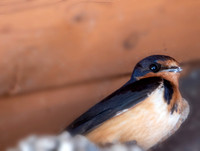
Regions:
<instances>
[{"instance_id":1,"label":"upper orange-brown wooden plank with knots, above the dark seam","mask_svg":"<svg viewBox=\"0 0 200 151\"><path fill-rule=\"evenodd\" d=\"M0 93L130 72L150 54L166 54L179 61L199 58L198 4L2 1Z\"/></svg>"}]
</instances>

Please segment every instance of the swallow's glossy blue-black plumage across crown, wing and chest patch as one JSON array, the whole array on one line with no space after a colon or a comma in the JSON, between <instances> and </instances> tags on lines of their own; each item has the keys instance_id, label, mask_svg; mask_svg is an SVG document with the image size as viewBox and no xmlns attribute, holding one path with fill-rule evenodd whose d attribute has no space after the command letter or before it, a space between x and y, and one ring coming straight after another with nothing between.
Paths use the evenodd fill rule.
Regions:
<instances>
[{"instance_id":1,"label":"swallow's glossy blue-black plumage across crown, wing and chest patch","mask_svg":"<svg viewBox=\"0 0 200 151\"><path fill-rule=\"evenodd\" d=\"M97 126L103 124L106 120L116 116L118 112L129 109L137 103L145 100L145 98L148 97L148 94L159 87L161 82L163 82L165 89L163 97L167 104L169 104L173 95L173 87L169 81L162 79L161 77L137 80L138 77L143 77L147 73L153 72L151 69L153 64L167 60L174 59L169 56L154 55L137 63L131 79L124 86L82 114L72 124L70 124L66 130L72 135L89 133ZM162 64L159 65L161 68L165 69Z\"/></svg>"}]
</instances>

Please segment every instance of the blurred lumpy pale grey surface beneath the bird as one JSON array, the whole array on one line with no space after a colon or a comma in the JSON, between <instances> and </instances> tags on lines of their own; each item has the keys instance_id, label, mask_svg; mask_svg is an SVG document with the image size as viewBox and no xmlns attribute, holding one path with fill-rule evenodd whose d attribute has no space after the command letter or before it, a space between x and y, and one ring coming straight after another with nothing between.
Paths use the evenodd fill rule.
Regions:
<instances>
[{"instance_id":1,"label":"blurred lumpy pale grey surface beneath the bird","mask_svg":"<svg viewBox=\"0 0 200 151\"><path fill-rule=\"evenodd\" d=\"M7 151L143 151L136 144L109 144L100 147L89 141L86 137L77 135L71 137L63 132L57 136L29 136L19 142L17 147Z\"/></svg>"}]
</instances>

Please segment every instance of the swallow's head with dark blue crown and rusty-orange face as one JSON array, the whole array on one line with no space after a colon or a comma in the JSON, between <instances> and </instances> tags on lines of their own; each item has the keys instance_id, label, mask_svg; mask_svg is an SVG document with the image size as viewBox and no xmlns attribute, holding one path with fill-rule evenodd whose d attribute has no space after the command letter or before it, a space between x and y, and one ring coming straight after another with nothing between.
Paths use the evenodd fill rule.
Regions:
<instances>
[{"instance_id":1,"label":"swallow's head with dark blue crown and rusty-orange face","mask_svg":"<svg viewBox=\"0 0 200 151\"><path fill-rule=\"evenodd\" d=\"M131 80L137 81L148 77L162 77L178 85L181 71L179 63L172 57L153 55L137 63Z\"/></svg>"}]
</instances>

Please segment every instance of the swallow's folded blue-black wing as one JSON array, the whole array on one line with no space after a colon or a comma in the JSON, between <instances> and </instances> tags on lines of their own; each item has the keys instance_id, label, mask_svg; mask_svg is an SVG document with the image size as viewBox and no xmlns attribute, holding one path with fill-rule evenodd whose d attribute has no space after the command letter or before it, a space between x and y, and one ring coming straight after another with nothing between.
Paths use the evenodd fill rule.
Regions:
<instances>
[{"instance_id":1,"label":"swallow's folded blue-black wing","mask_svg":"<svg viewBox=\"0 0 200 151\"><path fill-rule=\"evenodd\" d=\"M161 82L161 78L153 77L125 85L82 114L66 130L72 135L90 132L120 111L143 101Z\"/></svg>"}]
</instances>

